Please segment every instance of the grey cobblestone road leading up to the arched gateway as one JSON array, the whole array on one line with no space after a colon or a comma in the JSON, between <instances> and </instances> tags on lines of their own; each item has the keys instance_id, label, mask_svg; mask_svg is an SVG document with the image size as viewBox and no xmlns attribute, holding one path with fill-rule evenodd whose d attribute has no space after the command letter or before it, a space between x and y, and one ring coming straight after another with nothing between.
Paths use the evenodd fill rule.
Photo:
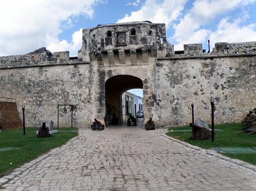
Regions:
<instances>
[{"instance_id":1,"label":"grey cobblestone road leading up to the arched gateway","mask_svg":"<svg viewBox=\"0 0 256 191\"><path fill-rule=\"evenodd\" d=\"M16 169L4 191L256 190L256 172L140 127L80 130ZM14 178L13 178L14 177ZM3 180L3 178L2 178Z\"/></svg>"}]
</instances>

